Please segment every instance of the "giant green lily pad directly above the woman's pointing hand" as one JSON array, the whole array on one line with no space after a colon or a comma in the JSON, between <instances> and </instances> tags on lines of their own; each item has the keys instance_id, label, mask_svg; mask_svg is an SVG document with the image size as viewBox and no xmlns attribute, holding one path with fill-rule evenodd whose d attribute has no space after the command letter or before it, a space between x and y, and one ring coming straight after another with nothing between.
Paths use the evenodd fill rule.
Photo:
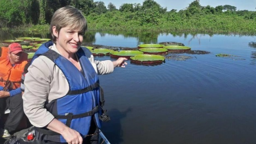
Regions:
<instances>
[{"instance_id":1,"label":"giant green lily pad directly above the woman's pointing hand","mask_svg":"<svg viewBox=\"0 0 256 144\"><path fill-rule=\"evenodd\" d=\"M143 54L143 52L142 51L119 51L119 52L113 51L113 52L110 52L110 56L112 58L125 57L125 58L130 59L131 56L135 56L138 54Z\"/></svg>"}]
</instances>

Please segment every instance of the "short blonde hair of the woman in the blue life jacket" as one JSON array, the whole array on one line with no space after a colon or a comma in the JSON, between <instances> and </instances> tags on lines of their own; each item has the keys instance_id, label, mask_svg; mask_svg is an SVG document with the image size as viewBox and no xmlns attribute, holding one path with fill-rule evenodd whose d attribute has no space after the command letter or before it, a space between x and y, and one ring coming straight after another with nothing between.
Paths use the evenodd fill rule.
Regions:
<instances>
[{"instance_id":1,"label":"short blonde hair of the woman in the blue life jacket","mask_svg":"<svg viewBox=\"0 0 256 144\"><path fill-rule=\"evenodd\" d=\"M56 27L56 31L60 31L61 28L70 26L72 29L77 31L85 32L87 30L86 19L82 12L73 6L65 6L56 10L53 14L52 21L50 24L50 31L52 40L56 42L56 36L53 34L53 26Z\"/></svg>"}]
</instances>

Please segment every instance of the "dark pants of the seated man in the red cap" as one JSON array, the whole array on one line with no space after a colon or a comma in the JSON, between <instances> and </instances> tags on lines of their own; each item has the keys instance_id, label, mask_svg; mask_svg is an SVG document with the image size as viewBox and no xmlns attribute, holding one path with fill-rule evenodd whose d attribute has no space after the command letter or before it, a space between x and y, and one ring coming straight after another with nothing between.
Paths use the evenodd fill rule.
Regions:
<instances>
[{"instance_id":1,"label":"dark pants of the seated man in the red cap","mask_svg":"<svg viewBox=\"0 0 256 144\"><path fill-rule=\"evenodd\" d=\"M20 94L17 94L12 97L0 98L0 126L3 128L3 115L5 110L9 109L10 113L5 122L4 128L10 133L14 132L18 125L20 124L21 119L24 116L23 111L23 99Z\"/></svg>"}]
</instances>

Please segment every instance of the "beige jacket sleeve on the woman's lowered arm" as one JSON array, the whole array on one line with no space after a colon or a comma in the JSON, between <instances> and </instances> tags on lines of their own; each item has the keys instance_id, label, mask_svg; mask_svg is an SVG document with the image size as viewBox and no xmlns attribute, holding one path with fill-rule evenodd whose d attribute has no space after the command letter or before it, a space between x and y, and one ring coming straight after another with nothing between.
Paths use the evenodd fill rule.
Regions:
<instances>
[{"instance_id":1,"label":"beige jacket sleeve on the woman's lowered arm","mask_svg":"<svg viewBox=\"0 0 256 144\"><path fill-rule=\"evenodd\" d=\"M24 80L25 92L22 96L24 113L36 127L44 127L54 118L44 108L50 91L53 68L50 68L43 58L46 57L39 56L29 66Z\"/></svg>"}]
</instances>

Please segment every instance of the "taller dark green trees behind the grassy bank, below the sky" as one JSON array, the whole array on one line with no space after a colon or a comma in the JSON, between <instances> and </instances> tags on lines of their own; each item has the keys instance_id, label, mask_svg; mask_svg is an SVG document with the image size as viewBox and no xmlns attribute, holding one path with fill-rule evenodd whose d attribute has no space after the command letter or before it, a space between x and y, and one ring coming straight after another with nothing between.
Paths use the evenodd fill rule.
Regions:
<instances>
[{"instance_id":1,"label":"taller dark green trees behind the grassy bank, below the sky","mask_svg":"<svg viewBox=\"0 0 256 144\"><path fill-rule=\"evenodd\" d=\"M117 9L114 4L105 6L103 1L93 0L0 0L0 27L34 26L49 24L53 13L60 7L71 5L80 9L92 23L107 24L109 27L115 25L102 22L106 17L123 23L147 26L148 24L159 25L161 21L180 24L187 20L196 20L198 17L239 17L240 20L256 21L256 12L248 10L236 10L235 6L201 6L199 0L192 1L188 7L177 11L167 11L154 0L145 0L140 3L124 3ZM139 20L139 24L138 24ZM209 21L209 23L212 21ZM100 27L100 25L98 26Z\"/></svg>"}]
</instances>

